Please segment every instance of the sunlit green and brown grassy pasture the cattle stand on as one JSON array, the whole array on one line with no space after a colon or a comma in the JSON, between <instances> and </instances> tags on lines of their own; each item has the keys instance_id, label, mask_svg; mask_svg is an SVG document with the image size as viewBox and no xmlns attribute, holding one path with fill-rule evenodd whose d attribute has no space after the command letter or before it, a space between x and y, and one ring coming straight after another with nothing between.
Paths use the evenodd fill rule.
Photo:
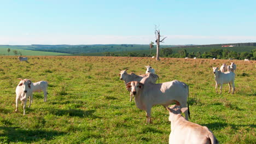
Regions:
<instances>
[{"instance_id":1,"label":"sunlit green and brown grassy pasture the cattle stand on","mask_svg":"<svg viewBox=\"0 0 256 144\"><path fill-rule=\"evenodd\" d=\"M256 143L255 61L232 60L237 65L235 94L216 94L212 67L224 59L142 57L0 56L0 143L168 143L168 111L152 108L153 124L139 110L118 69L145 73L151 65L160 83L179 80L189 85L190 121L207 126L220 143ZM18 78L49 83L48 101L33 94L26 115L19 102Z\"/></svg>"}]
</instances>

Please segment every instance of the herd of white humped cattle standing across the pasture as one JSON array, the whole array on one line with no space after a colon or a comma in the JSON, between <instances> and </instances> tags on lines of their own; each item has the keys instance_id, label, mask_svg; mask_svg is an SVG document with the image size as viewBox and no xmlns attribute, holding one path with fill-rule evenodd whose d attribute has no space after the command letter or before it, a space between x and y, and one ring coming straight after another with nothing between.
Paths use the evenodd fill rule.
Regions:
<instances>
[{"instance_id":1,"label":"herd of white humped cattle standing across the pasture","mask_svg":"<svg viewBox=\"0 0 256 144\"><path fill-rule=\"evenodd\" d=\"M19 57L20 61L27 61L27 58ZM202 127L188 121L189 112L189 87L181 81L169 81L164 83L156 83L159 76L155 74L155 69L150 65L147 68L146 74L136 75L135 73L127 73L127 69L120 70L120 80L123 80L127 91L130 92L130 101L134 97L138 109L146 111L147 123L152 123L150 118L151 109L154 105L162 105L169 111L168 120L171 122L171 134L169 143L218 143L218 140L207 127ZM232 94L235 91L235 71L236 64L222 64L220 70L218 67L213 67L213 74L216 81L216 92L220 85L220 94L222 93L222 85L229 84L229 93L232 85ZM44 92L44 102L47 100L48 83L46 81L31 82L29 79L19 79L20 82L16 87L16 109L18 111L18 101L24 103L23 112L27 99L30 98L31 106L33 100L33 92ZM172 105L168 107L168 105ZM185 118L181 115L185 114ZM182 136L181 136L182 134Z\"/></svg>"}]
</instances>

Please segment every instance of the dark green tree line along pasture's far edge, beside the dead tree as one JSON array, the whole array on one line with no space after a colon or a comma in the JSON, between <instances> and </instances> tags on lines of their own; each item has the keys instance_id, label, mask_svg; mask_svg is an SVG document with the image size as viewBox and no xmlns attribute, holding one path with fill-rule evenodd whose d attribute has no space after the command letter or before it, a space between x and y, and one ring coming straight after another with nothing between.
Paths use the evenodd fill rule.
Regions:
<instances>
[{"instance_id":1,"label":"dark green tree line along pasture's far edge, beside the dead tree","mask_svg":"<svg viewBox=\"0 0 256 144\"><path fill-rule=\"evenodd\" d=\"M155 53L153 53L155 55ZM104 52L104 56L128 56L128 57L151 57L150 53L115 53L115 52ZM175 58L217 58L217 59L251 59L256 60L256 49L251 52L235 52L228 49L212 49L210 52L187 52L186 49L179 50L173 53L171 48L162 48L160 57L175 57Z\"/></svg>"}]
</instances>

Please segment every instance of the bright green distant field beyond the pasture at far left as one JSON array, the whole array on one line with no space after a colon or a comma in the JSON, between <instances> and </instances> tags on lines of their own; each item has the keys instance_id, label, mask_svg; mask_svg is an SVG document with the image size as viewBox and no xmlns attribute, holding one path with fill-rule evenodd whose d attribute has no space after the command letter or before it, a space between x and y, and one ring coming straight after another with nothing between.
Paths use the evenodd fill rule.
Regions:
<instances>
[{"instance_id":1,"label":"bright green distant field beyond the pasture at far left","mask_svg":"<svg viewBox=\"0 0 256 144\"><path fill-rule=\"evenodd\" d=\"M24 50L24 49L17 49L11 48L10 52L7 51L8 48L0 47L0 56L15 56L13 50L21 52L22 56L63 56L63 55L70 55L69 53L60 53L60 52L46 52L46 51L33 51L33 50ZM19 54L18 54L19 55Z\"/></svg>"}]
</instances>

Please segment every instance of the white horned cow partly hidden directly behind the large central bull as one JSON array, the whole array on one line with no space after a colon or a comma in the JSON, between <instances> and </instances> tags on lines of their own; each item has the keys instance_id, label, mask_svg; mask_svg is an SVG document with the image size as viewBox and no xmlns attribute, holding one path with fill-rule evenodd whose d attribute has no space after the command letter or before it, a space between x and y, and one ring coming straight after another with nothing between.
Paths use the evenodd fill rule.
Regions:
<instances>
[{"instance_id":1,"label":"white horned cow partly hidden directly behind the large central bull","mask_svg":"<svg viewBox=\"0 0 256 144\"><path fill-rule=\"evenodd\" d=\"M127 74L126 71L128 69L125 69L125 70L119 69L119 70L121 71L119 74L120 80L123 80L125 82L125 85L126 85L126 83L131 82L131 81L141 81L143 79L143 77L147 77L147 76L150 76L153 78L152 83L155 83L159 79L158 75L153 74L153 73L136 75L135 73ZM132 101L132 93L131 92L130 92L130 101Z\"/></svg>"}]
</instances>

